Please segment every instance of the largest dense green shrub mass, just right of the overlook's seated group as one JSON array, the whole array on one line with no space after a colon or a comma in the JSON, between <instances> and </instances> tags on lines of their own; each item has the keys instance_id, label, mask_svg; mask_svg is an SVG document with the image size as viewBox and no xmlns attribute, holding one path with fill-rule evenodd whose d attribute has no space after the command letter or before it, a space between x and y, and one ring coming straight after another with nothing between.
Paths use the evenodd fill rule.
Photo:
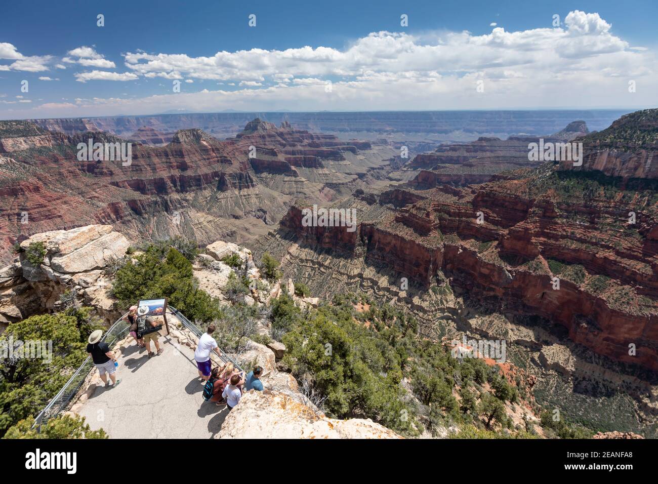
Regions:
<instances>
[{"instance_id":1,"label":"largest dense green shrub mass, just right of the overlook's seated group","mask_svg":"<svg viewBox=\"0 0 658 484\"><path fill-rule=\"evenodd\" d=\"M302 316L292 298L283 294L272 304L272 330L286 344L284 363L323 400L324 411L339 418L362 416L404 435L415 435L415 414L404 402L399 383L404 352L388 340L399 329L378 333L357 325L354 308L343 299L340 306L321 306Z\"/></svg>"}]
</instances>

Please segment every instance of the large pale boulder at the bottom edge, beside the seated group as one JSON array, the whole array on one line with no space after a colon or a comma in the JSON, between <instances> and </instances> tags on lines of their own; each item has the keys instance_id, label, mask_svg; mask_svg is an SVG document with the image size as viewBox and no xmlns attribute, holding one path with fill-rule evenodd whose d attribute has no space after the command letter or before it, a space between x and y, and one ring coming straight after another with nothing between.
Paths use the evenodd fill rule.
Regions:
<instances>
[{"instance_id":1,"label":"large pale boulder at the bottom edge, beside the seated group","mask_svg":"<svg viewBox=\"0 0 658 484\"><path fill-rule=\"evenodd\" d=\"M339 420L315 412L286 394L244 394L216 439L400 439L370 419Z\"/></svg>"}]
</instances>

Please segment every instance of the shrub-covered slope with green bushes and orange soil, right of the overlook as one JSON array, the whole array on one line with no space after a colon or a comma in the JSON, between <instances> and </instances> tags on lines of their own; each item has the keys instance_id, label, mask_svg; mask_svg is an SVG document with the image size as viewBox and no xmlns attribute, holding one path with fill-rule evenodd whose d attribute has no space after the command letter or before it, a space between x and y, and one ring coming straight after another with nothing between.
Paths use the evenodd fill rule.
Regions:
<instances>
[{"instance_id":1,"label":"shrub-covered slope with green bushes and orange soil, right of the overlook","mask_svg":"<svg viewBox=\"0 0 658 484\"><path fill-rule=\"evenodd\" d=\"M522 381L510 383L477 358L459 362L442 344L418 338L416 321L388 304L348 294L302 311L284 294L270 319L273 333L284 335L284 363L311 382L330 416L371 418L409 437L452 425L480 438L536 437L505 413L505 402L525 396Z\"/></svg>"}]
</instances>

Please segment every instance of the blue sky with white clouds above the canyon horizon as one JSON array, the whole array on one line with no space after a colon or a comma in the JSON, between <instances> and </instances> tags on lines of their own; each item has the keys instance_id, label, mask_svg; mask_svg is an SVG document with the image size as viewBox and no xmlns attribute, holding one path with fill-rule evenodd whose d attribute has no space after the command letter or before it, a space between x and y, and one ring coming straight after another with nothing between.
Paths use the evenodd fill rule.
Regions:
<instances>
[{"instance_id":1,"label":"blue sky with white clouds above the canyon horizon","mask_svg":"<svg viewBox=\"0 0 658 484\"><path fill-rule=\"evenodd\" d=\"M653 107L657 14L649 0L7 3L0 118Z\"/></svg>"}]
</instances>

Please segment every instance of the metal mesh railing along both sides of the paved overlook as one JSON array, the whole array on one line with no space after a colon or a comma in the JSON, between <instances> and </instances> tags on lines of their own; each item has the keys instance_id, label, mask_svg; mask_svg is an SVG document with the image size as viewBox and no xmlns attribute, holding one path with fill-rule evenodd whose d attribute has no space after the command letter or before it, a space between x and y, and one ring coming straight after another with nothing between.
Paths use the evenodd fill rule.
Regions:
<instances>
[{"instance_id":1,"label":"metal mesh railing along both sides of the paved overlook","mask_svg":"<svg viewBox=\"0 0 658 484\"><path fill-rule=\"evenodd\" d=\"M173 308L172 306L168 306L168 310L171 311L172 315L176 316L178 318L178 321L181 322L182 325L184 325L186 328L188 328L197 338L203 334L203 331L201 328L199 328L197 325L192 323L187 317L183 315L178 309ZM128 314L128 313L126 313ZM122 317L120 317L106 332L105 335L101 338L101 341L106 342L110 348L114 346L114 343L121 338L123 338L127 333L128 333L128 328L130 325L128 324L127 321L124 321L124 317L126 316L124 314ZM220 352L220 359L224 363L233 363L233 365L242 371L242 368L240 365L238 365L237 362L235 362L230 356L228 356L224 351L221 349L219 350ZM86 360L84 360L84 363L78 367L78 369L73 373L73 375L68 379L68 381L64 384L64 387L62 387L59 392L50 400L50 402L39 412L39 415L36 416L34 419L34 424L32 425L32 429L36 428L37 431L41 431L41 425L45 422L47 422L49 419L53 417L57 417L61 412L63 412L68 405L70 404L72 398L78 394L78 391L82 388L82 385L84 384L84 381L87 379L89 376L89 373L91 370L94 368L93 362L91 361L91 357L87 357Z\"/></svg>"}]
</instances>

